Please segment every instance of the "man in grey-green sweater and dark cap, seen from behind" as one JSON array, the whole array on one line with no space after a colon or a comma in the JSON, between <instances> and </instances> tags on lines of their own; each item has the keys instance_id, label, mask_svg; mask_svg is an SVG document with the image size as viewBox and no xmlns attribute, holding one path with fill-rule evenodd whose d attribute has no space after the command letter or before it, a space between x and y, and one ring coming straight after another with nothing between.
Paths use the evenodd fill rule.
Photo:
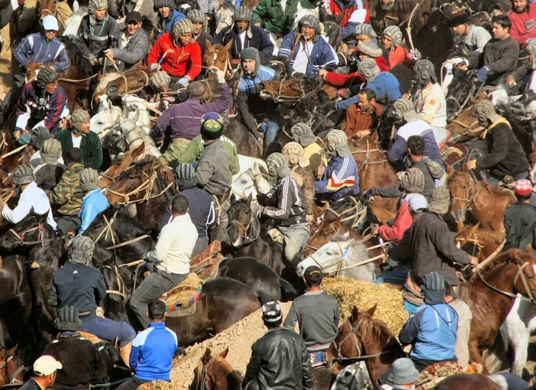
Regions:
<instances>
[{"instance_id":1,"label":"man in grey-green sweater and dark cap, seen from behind","mask_svg":"<svg viewBox=\"0 0 536 390\"><path fill-rule=\"evenodd\" d=\"M312 367L326 362L326 351L339 329L339 304L322 291L320 284L323 277L319 267L307 267L304 273L306 293L292 302L283 324L286 329L293 331L298 322L299 334L304 338L311 355Z\"/></svg>"}]
</instances>

